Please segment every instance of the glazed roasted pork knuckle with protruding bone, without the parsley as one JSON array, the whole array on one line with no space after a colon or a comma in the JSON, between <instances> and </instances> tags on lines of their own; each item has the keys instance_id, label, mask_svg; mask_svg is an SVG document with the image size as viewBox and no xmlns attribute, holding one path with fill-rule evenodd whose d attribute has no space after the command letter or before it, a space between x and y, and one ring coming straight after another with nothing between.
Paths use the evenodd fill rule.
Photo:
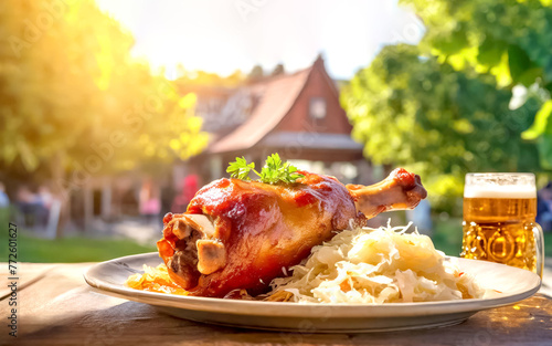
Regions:
<instances>
[{"instance_id":1,"label":"glazed roasted pork knuckle with protruding bone, without the parsley","mask_svg":"<svg viewBox=\"0 0 552 346\"><path fill-rule=\"evenodd\" d=\"M171 279L195 296L264 293L312 247L427 196L420 177L402 168L372 186L299 174L282 185L219 179L198 191L187 212L168 213L157 245Z\"/></svg>"}]
</instances>

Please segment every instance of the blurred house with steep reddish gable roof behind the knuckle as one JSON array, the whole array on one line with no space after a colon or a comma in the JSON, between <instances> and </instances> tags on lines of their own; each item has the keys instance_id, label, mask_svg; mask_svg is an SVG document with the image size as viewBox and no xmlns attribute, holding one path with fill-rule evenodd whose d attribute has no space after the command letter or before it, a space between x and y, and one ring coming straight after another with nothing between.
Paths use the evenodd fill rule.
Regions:
<instances>
[{"instance_id":1,"label":"blurred house with steep reddish gable roof behind the knuckle","mask_svg":"<svg viewBox=\"0 0 552 346\"><path fill-rule=\"evenodd\" d=\"M227 176L227 162L244 156L262 167L278 153L301 169L326 172L347 182L373 182L363 146L351 139L351 125L339 103L336 82L323 60L302 71L278 73L235 88L185 85L198 95L197 114L211 134L208 149L180 167L177 176L198 174L202 182Z\"/></svg>"}]
</instances>

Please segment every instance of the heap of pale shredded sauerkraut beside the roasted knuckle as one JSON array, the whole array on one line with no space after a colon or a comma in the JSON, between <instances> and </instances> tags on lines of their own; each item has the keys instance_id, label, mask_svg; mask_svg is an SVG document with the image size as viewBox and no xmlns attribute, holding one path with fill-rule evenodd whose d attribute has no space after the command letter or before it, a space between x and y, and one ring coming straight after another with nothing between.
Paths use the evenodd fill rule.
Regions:
<instances>
[{"instance_id":1,"label":"heap of pale shredded sauerkraut beside the roasted knuckle","mask_svg":"<svg viewBox=\"0 0 552 346\"><path fill-rule=\"evenodd\" d=\"M481 297L455 259L407 227L342 231L312 249L293 275L273 280L268 301L383 304Z\"/></svg>"}]
</instances>

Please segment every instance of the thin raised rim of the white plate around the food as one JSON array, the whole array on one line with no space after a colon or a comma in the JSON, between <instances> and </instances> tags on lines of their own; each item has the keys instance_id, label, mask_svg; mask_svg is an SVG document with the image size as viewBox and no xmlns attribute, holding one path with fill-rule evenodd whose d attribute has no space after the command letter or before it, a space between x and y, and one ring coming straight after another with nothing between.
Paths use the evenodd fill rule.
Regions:
<instances>
[{"instance_id":1,"label":"thin raised rim of the white plate around the food","mask_svg":"<svg viewBox=\"0 0 552 346\"><path fill-rule=\"evenodd\" d=\"M499 265L507 266L512 272L522 271L534 275L537 279L537 284L530 289L509 294L499 297L487 297L487 298L471 298L471 300L458 300L458 301L438 301L438 302L415 302L415 303L385 303L385 304L298 304L290 302L264 302L264 301L241 301L241 300L224 300L216 297L201 297L201 296L183 296L183 295L171 295L158 292L148 292L135 290L131 287L124 286L121 284L113 284L104 279L97 277L96 272L102 271L109 265L120 265L120 263L126 264L129 260L137 261L140 259L150 259L151 256L157 256L157 252L147 252L140 254L132 254L112 259L108 261L95 263L89 266L83 274L86 283L92 286L95 291L112 296L125 298L128 301L135 301L140 303L146 303L150 305L167 306L182 310L193 310L211 313L225 313L234 315L255 315L255 316L277 316L277 317L314 317L314 313L331 311L331 318L336 317L361 317L370 315L370 317L412 317L420 316L421 314L456 314L466 312L479 312L484 310L495 308L499 306L505 306L520 302L524 298L532 296L541 287L542 281L539 275L527 270L519 268L508 266L506 264L493 263L480 260L469 260L457 256L447 256L452 259L459 260L460 262L478 262L486 263L484 265ZM146 261L144 261L146 262ZM159 263L162 260L159 258ZM526 273L526 274L527 274ZM129 273L130 274L130 273ZM182 306L185 305L185 306ZM251 307L266 307L252 310ZM450 308L454 306L454 308ZM247 310L246 312L242 310L236 310L236 307L243 307L242 310ZM276 310L273 311L273 310ZM270 312L268 312L270 311Z\"/></svg>"}]
</instances>

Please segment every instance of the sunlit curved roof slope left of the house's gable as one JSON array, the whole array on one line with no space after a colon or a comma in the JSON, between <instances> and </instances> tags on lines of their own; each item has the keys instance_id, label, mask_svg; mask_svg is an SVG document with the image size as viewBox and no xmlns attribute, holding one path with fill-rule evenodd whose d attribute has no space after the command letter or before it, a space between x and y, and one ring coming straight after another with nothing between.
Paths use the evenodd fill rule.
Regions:
<instances>
[{"instance_id":1,"label":"sunlit curved roof slope left of the house's gable","mask_svg":"<svg viewBox=\"0 0 552 346\"><path fill-rule=\"evenodd\" d=\"M226 153L253 147L286 116L307 83L312 67L280 75L252 86L259 96L250 118L235 130L214 143L211 153Z\"/></svg>"}]
</instances>

